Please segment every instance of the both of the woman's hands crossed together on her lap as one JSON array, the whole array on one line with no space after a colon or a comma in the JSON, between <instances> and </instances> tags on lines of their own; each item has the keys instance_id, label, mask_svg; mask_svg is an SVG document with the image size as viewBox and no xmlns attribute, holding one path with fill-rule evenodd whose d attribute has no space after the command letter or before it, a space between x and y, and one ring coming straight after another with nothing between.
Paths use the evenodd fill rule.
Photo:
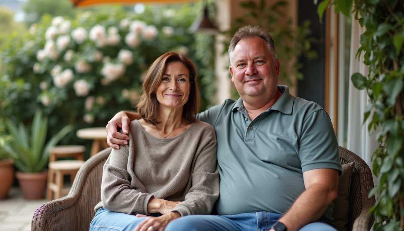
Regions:
<instances>
[{"instance_id":1,"label":"both of the woman's hands crossed together on her lap","mask_svg":"<svg viewBox=\"0 0 404 231\"><path fill-rule=\"evenodd\" d=\"M167 201L164 199L151 198L147 203L147 212L163 214L162 216L154 217L147 216L145 220L139 223L134 231L164 231L167 224L179 218L181 215L177 211L171 212L180 203L179 201ZM146 216L144 214L136 214L137 217Z\"/></svg>"}]
</instances>

